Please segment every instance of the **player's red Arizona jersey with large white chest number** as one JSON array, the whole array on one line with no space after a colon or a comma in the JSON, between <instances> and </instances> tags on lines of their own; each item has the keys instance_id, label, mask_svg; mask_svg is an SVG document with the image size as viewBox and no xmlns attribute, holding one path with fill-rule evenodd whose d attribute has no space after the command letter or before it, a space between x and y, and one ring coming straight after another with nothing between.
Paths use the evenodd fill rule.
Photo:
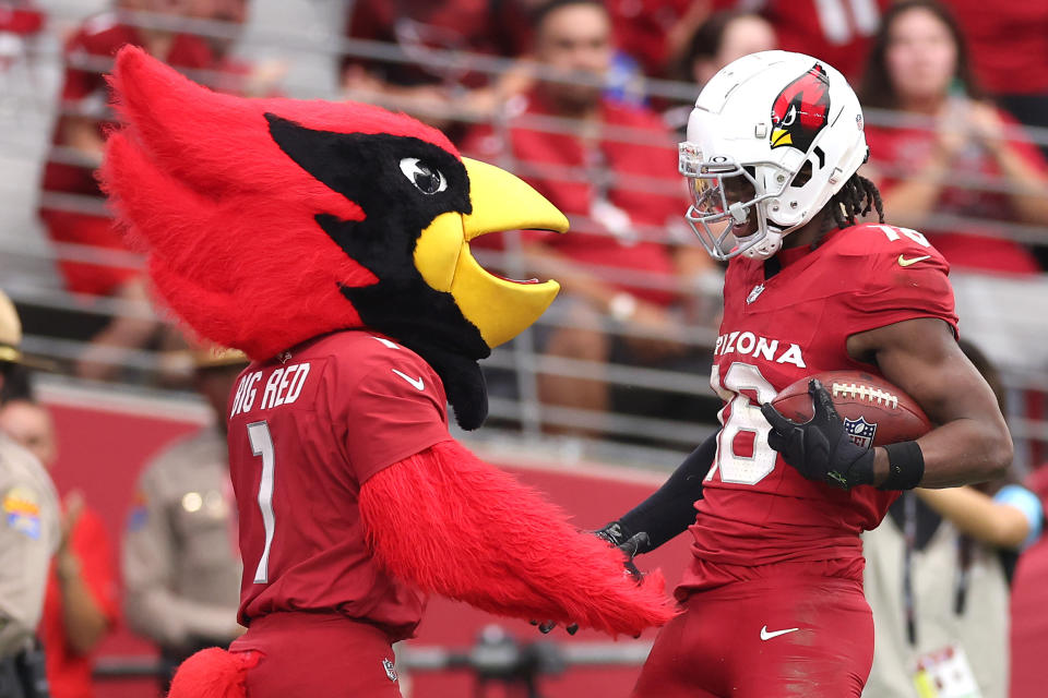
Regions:
<instances>
[{"instance_id":1,"label":"player's red Arizona jersey with large white chest number","mask_svg":"<svg viewBox=\"0 0 1048 698\"><path fill-rule=\"evenodd\" d=\"M915 317L956 333L949 265L919 232L862 225L815 250L784 250L783 268L735 257L724 281L724 320L711 384L724 399L717 456L691 527L695 559L684 588L730 581L773 563L861 574L859 533L877 527L897 492L843 491L805 479L767 445L760 404L821 371L877 366L851 359L849 335ZM729 566L729 567L725 567ZM819 574L819 573L814 573Z\"/></svg>"}]
</instances>

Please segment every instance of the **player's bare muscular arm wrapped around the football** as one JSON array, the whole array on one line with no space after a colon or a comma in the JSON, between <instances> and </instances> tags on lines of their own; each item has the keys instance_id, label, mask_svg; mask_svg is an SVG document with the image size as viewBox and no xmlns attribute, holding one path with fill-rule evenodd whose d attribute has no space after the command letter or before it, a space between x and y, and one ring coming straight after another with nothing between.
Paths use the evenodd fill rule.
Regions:
<instances>
[{"instance_id":1,"label":"player's bare muscular arm wrapped around the football","mask_svg":"<svg viewBox=\"0 0 1048 698\"><path fill-rule=\"evenodd\" d=\"M916 441L924 460L921 486L948 488L1005 473L1012 440L997 398L945 322L918 317L893 323L851 335L847 348L853 358L876 363L939 424ZM873 484L883 484L889 473L888 452L876 448Z\"/></svg>"}]
</instances>

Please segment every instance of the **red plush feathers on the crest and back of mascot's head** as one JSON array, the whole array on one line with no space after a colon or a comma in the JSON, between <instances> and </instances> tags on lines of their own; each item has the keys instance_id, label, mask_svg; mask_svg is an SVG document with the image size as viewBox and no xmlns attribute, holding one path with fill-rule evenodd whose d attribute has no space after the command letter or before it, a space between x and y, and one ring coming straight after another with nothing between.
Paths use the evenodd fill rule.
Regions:
<instances>
[{"instance_id":1,"label":"red plush feathers on the crest and back of mascot's head","mask_svg":"<svg viewBox=\"0 0 1048 698\"><path fill-rule=\"evenodd\" d=\"M359 220L360 207L284 154L265 113L311 129L410 135L457 157L443 134L404 115L219 95L134 47L118 55L111 82L127 125L109 136L102 180L121 222L150 253L175 312L253 359L359 326L338 288L376 282L314 220Z\"/></svg>"}]
</instances>

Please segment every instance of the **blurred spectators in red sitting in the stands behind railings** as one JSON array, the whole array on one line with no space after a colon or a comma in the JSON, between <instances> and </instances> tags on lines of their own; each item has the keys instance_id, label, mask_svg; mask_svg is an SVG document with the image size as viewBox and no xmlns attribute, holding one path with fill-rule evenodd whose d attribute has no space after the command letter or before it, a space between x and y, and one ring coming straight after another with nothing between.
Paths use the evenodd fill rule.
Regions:
<instances>
[{"instance_id":1,"label":"blurred spectators in red sitting in the stands behind railings","mask_svg":"<svg viewBox=\"0 0 1048 698\"><path fill-rule=\"evenodd\" d=\"M720 269L683 222L675 143L701 86L746 53L802 50L853 80L868 108L866 176L892 221L925 232L955 269L1039 275L1048 262L1048 131L1036 131L1048 125L1048 69L1038 59L1048 55L1048 8L1038 3L344 5L338 71L346 98L444 129L464 154L520 173L572 220L563 238L477 241L489 267L556 277L564 288L526 338L544 359L533 384L491 370L497 396L540 400L547 431L602 435L608 423L600 416L609 412L711 421L711 402L623 385L615 366L691 375L708 368ZM148 300L140 263L120 255L126 244L93 177L112 120L104 72L114 53L133 44L216 89L281 95L286 64L252 63L233 50L250 12L248 0L114 0L63 37L39 219L66 289L85 308ZM0 2L0 36L47 27L32 2ZM127 378L126 358L135 349L178 356L183 340L157 317L118 312L82 329L90 341L66 368L81 377ZM160 382L184 384L184 369L162 363Z\"/></svg>"}]
</instances>

